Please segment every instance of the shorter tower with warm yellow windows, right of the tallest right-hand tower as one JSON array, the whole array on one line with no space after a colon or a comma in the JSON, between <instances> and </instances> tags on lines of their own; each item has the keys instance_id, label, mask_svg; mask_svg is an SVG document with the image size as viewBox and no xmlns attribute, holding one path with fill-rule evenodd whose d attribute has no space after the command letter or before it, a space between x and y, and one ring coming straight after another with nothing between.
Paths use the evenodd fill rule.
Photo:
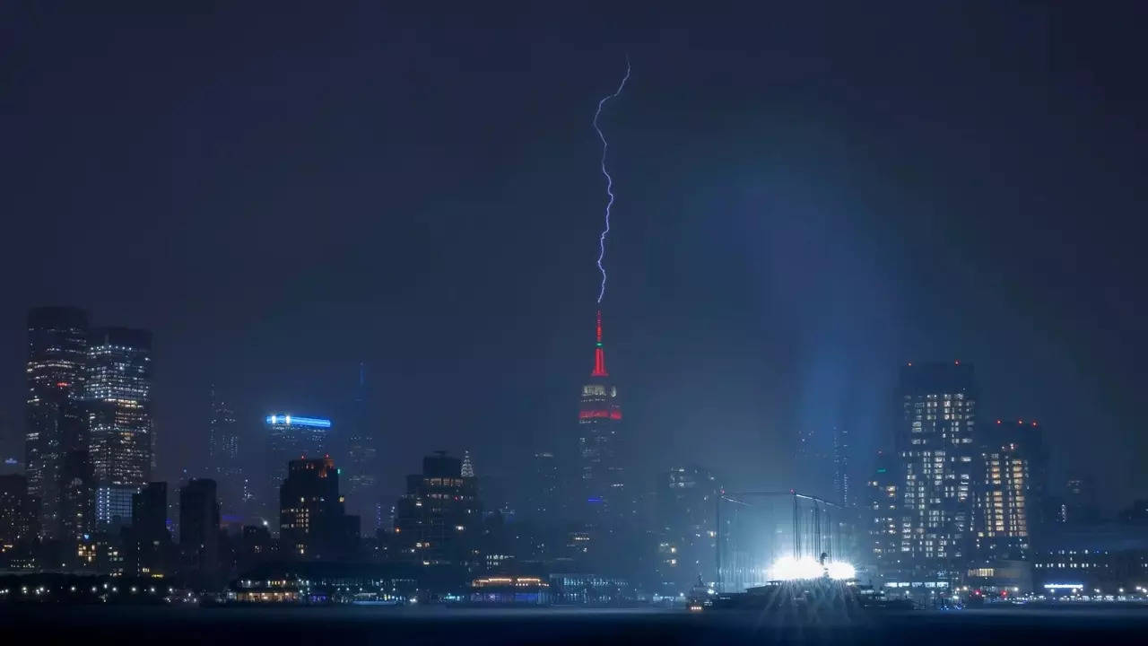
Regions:
<instances>
[{"instance_id":1,"label":"shorter tower with warm yellow windows, right of the tallest right-hand tower","mask_svg":"<svg viewBox=\"0 0 1148 646\"><path fill-rule=\"evenodd\" d=\"M980 449L976 528L977 555L1027 560L1040 524L1045 460L1037 422L987 424Z\"/></svg>"}]
</instances>

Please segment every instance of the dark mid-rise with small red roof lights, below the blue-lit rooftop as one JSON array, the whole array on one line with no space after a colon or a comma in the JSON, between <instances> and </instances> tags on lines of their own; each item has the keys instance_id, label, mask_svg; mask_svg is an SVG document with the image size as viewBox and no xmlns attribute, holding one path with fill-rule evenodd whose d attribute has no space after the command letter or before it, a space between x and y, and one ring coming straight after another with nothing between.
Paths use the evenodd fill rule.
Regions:
<instances>
[{"instance_id":1,"label":"dark mid-rise with small red roof lights, below the blue-lit rooftop","mask_svg":"<svg viewBox=\"0 0 1148 646\"><path fill-rule=\"evenodd\" d=\"M279 489L279 541L294 559L335 559L355 551L358 516L347 515L331 457L292 460Z\"/></svg>"}]
</instances>

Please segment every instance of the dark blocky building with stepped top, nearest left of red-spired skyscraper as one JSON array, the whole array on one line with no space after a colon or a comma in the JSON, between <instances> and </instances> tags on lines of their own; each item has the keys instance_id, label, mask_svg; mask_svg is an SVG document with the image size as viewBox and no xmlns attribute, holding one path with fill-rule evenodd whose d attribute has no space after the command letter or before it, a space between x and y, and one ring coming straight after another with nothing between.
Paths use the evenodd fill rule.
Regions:
<instances>
[{"instance_id":1,"label":"dark blocky building with stepped top, nearest left of red-spired skyscraper","mask_svg":"<svg viewBox=\"0 0 1148 646\"><path fill-rule=\"evenodd\" d=\"M406 476L406 494L395 512L395 539L405 560L424 564L479 560L479 484L463 476L458 457L444 451L424 457L422 472Z\"/></svg>"}]
</instances>

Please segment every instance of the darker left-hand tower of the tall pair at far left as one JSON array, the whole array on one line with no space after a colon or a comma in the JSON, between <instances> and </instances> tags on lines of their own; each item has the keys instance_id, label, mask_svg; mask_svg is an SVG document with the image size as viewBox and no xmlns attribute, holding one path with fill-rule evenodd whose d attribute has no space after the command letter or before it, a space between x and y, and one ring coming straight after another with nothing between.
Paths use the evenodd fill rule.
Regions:
<instances>
[{"instance_id":1,"label":"darker left-hand tower of the tall pair at far left","mask_svg":"<svg viewBox=\"0 0 1148 646\"><path fill-rule=\"evenodd\" d=\"M87 451L79 410L86 357L86 312L73 307L38 307L29 312L28 492L40 501L40 529L49 537L61 532L61 483L67 455Z\"/></svg>"}]
</instances>

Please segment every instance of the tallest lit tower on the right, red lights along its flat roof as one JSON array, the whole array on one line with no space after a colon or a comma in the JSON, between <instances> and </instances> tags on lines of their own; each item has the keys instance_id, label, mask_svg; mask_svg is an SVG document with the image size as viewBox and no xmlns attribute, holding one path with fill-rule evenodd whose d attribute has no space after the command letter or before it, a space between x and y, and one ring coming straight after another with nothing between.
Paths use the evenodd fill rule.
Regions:
<instances>
[{"instance_id":1,"label":"tallest lit tower on the right, red lights along its flat roof","mask_svg":"<svg viewBox=\"0 0 1148 646\"><path fill-rule=\"evenodd\" d=\"M901 368L897 433L900 554L914 580L954 582L970 554L976 391L972 366Z\"/></svg>"}]
</instances>

